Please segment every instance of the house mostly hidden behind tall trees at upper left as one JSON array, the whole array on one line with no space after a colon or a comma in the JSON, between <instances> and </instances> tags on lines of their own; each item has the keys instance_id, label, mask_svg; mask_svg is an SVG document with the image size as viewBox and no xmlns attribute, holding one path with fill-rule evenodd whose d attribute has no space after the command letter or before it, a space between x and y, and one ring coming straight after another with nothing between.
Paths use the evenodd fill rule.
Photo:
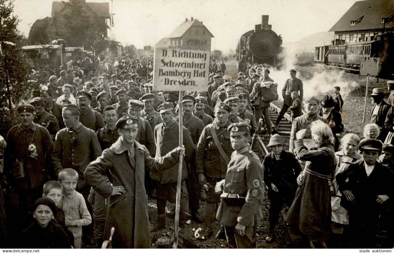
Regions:
<instances>
[{"instance_id":1,"label":"house mostly hidden behind tall trees at upper left","mask_svg":"<svg viewBox=\"0 0 394 253\"><path fill-rule=\"evenodd\" d=\"M103 30L103 34L107 37L107 29L110 29L111 26L111 14L110 14L110 4L109 3L89 3L85 0L78 0L85 9L88 15L97 15L102 22L106 25L104 27L105 31ZM65 11L69 7L69 2L67 1L54 1L52 2L52 12L51 15L55 15L56 13L61 13ZM113 22L112 22L113 24Z\"/></svg>"}]
</instances>

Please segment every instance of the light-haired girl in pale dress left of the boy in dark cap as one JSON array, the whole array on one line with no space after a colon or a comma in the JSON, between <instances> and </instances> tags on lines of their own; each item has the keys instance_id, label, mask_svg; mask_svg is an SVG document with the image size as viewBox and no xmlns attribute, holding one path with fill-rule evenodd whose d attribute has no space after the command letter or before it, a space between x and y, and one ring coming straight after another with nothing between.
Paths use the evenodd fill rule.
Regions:
<instances>
[{"instance_id":1,"label":"light-haired girl in pale dress left of the boy in dark cap","mask_svg":"<svg viewBox=\"0 0 394 253\"><path fill-rule=\"evenodd\" d=\"M373 124L375 125L375 124ZM344 225L349 224L349 214L346 209L344 209L341 205L341 197L342 193L338 189L338 185L336 184L336 175L340 172L343 172L346 168L349 167L349 165L358 159L361 158L361 155L357 153L357 147L359 146L359 143L361 141L361 138L357 134L346 134L344 137L341 139L341 150L338 152L335 152L335 161L336 161L336 167L335 171L333 174L333 177L331 178L333 181L332 186L330 186L331 189L331 208L332 208L332 214L331 214L331 221L335 222L335 226L338 227L337 224L340 224L339 227L344 227Z\"/></svg>"}]
</instances>

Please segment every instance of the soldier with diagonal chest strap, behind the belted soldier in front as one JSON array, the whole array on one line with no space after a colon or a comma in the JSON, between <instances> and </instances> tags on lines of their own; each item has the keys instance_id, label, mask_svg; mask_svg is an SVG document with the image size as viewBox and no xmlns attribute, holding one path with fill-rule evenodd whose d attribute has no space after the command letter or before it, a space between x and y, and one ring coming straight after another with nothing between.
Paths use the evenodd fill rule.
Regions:
<instances>
[{"instance_id":1,"label":"soldier with diagonal chest strap, behind the belted soldier in front","mask_svg":"<svg viewBox=\"0 0 394 253\"><path fill-rule=\"evenodd\" d=\"M206 228L200 233L198 239L206 240L212 234L215 218L216 204L219 195L215 194L214 186L226 176L229 157L232 154L230 135L227 127L230 125L228 118L231 108L225 103L217 103L215 119L212 124L206 125L201 133L196 149L196 171L199 183L206 191Z\"/></svg>"}]
</instances>

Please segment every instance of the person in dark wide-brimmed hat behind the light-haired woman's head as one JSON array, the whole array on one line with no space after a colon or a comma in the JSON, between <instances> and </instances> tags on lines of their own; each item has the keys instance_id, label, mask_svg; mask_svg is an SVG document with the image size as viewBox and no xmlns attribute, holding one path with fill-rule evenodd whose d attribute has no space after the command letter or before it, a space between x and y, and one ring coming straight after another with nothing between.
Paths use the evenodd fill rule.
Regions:
<instances>
[{"instance_id":1,"label":"person in dark wide-brimmed hat behind the light-haired woman's head","mask_svg":"<svg viewBox=\"0 0 394 253\"><path fill-rule=\"evenodd\" d=\"M320 116L327 119L328 126L331 128L335 138L335 152L339 148L339 139L336 134L342 133L344 130L344 125L342 124L342 117L339 112L334 110L336 101L331 95L325 95L322 100L322 110L320 111Z\"/></svg>"}]
</instances>

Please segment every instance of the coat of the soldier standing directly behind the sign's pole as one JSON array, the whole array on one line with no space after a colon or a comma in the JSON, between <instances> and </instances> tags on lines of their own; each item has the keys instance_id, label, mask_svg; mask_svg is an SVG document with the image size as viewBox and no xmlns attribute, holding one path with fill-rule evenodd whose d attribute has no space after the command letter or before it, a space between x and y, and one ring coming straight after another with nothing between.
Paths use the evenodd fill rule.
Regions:
<instances>
[{"instance_id":1,"label":"coat of the soldier standing directly behind the sign's pole","mask_svg":"<svg viewBox=\"0 0 394 253\"><path fill-rule=\"evenodd\" d=\"M157 145L155 158L159 158L179 146L178 122L173 121L173 123L167 127L164 127L164 123L160 123L154 128L154 137ZM184 161L182 162L182 180L188 178L186 166L193 163L195 158L194 143L186 127L183 127L183 145L186 150ZM176 182L178 180L178 164L169 170L164 170L162 172L151 171L150 174L152 179L160 181L160 183Z\"/></svg>"}]
</instances>

